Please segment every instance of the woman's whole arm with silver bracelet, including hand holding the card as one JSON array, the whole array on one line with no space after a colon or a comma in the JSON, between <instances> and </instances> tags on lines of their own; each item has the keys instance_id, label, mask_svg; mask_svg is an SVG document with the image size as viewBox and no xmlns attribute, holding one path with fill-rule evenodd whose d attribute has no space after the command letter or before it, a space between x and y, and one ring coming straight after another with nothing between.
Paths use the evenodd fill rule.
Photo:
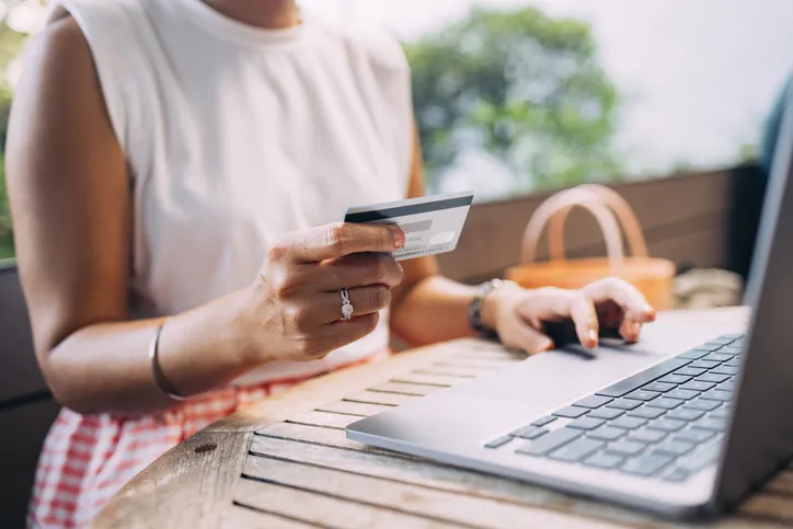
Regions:
<instances>
[{"instance_id":1,"label":"woman's whole arm with silver bracelet, including hand holding the card","mask_svg":"<svg viewBox=\"0 0 793 529\"><path fill-rule=\"evenodd\" d=\"M129 180L88 44L64 18L28 47L8 141L19 266L42 371L82 413L173 405L154 384L148 349L163 320L127 321ZM404 235L334 225L290 234L263 255L251 286L169 318L159 355L180 394L222 384L271 360L310 360L371 332ZM364 255L349 255L349 254ZM338 322L349 288L353 321Z\"/></svg>"}]
</instances>

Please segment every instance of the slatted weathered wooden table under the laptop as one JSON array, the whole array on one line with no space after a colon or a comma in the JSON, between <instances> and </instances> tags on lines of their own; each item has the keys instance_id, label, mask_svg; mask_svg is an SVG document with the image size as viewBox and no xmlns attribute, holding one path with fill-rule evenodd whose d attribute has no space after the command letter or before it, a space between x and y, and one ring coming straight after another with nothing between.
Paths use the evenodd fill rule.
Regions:
<instances>
[{"instance_id":1,"label":"slatted weathered wooden table under the laptop","mask_svg":"<svg viewBox=\"0 0 793 529\"><path fill-rule=\"evenodd\" d=\"M746 312L669 317L740 324ZM94 527L686 527L345 437L361 416L520 358L461 341L314 379L173 448L122 490ZM793 526L789 470L714 527L785 525Z\"/></svg>"}]
</instances>

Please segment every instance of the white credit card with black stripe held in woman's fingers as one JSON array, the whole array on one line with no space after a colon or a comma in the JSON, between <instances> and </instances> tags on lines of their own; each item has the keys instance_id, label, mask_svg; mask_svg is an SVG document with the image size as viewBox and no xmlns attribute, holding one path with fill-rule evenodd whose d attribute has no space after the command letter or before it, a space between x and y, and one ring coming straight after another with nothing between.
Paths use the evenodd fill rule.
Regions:
<instances>
[{"instance_id":1,"label":"white credit card with black stripe held in woman's fingers","mask_svg":"<svg viewBox=\"0 0 793 529\"><path fill-rule=\"evenodd\" d=\"M399 226L405 245L391 255L402 261L455 250L472 202L473 192L407 198L348 208L344 221Z\"/></svg>"}]
</instances>

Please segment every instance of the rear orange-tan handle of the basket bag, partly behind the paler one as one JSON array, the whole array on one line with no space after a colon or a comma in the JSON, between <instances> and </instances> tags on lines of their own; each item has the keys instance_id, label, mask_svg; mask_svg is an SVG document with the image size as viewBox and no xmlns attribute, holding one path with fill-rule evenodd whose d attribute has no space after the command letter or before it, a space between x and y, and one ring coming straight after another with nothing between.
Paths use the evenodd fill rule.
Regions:
<instances>
[{"instance_id":1,"label":"rear orange-tan handle of the basket bag, partly behind the paler one","mask_svg":"<svg viewBox=\"0 0 793 529\"><path fill-rule=\"evenodd\" d=\"M598 184L584 184L575 187L591 193L611 208L617 216L622 231L628 239L628 245L634 257L647 257L647 242L642 234L642 228L631 206L616 191ZM564 260L564 223L573 206L560 208L548 221L548 252L552 260Z\"/></svg>"}]
</instances>

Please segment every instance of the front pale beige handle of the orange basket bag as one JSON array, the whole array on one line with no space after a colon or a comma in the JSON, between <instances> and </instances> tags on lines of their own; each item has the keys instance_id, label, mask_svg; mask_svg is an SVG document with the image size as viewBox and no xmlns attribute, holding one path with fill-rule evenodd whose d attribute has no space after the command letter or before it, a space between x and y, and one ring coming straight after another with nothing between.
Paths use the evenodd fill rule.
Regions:
<instances>
[{"instance_id":1,"label":"front pale beige handle of the orange basket bag","mask_svg":"<svg viewBox=\"0 0 793 529\"><path fill-rule=\"evenodd\" d=\"M537 248L540 243L542 230L549 220L559 211L568 211L573 207L583 207L587 209L600 226L600 231L606 240L606 253L609 264L614 265L624 258L624 249L622 246L622 232L620 226L614 218L614 214L609 209L600 198L586 189L573 187L552 195L545 199L537 208L529 219L529 223L524 231L522 251L520 256L521 263L530 263L537 258ZM551 233L549 231L549 246ZM563 246L563 242L560 241ZM562 260L564 255L562 255Z\"/></svg>"}]
</instances>

